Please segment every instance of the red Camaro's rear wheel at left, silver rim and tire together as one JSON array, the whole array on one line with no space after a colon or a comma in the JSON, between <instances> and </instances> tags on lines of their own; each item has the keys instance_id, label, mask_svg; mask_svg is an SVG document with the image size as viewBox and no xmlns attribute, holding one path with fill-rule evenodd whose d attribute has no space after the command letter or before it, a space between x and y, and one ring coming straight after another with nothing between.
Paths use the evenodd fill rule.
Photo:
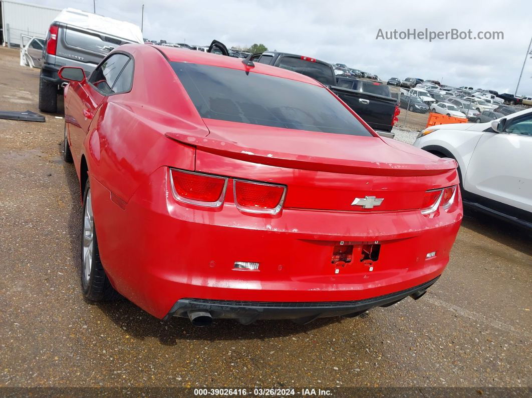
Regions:
<instances>
[{"instance_id":1,"label":"red Camaro's rear wheel at left, silver rim and tire together","mask_svg":"<svg viewBox=\"0 0 532 398\"><path fill-rule=\"evenodd\" d=\"M81 237L81 287L86 299L110 301L120 298L105 274L99 257L98 240L94 224L92 195L87 181L83 200L83 234Z\"/></svg>"}]
</instances>

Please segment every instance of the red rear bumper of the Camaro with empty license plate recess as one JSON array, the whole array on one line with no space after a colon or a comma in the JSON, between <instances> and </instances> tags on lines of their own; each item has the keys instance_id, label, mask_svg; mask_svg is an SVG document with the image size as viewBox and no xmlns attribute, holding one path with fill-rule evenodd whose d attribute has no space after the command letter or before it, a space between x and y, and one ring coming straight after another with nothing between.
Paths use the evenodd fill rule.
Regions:
<instances>
[{"instance_id":1,"label":"red rear bumper of the Camaro with empty license plate recess","mask_svg":"<svg viewBox=\"0 0 532 398\"><path fill-rule=\"evenodd\" d=\"M210 211L195 209L164 194L169 191L167 174L164 167L157 170L123 209L103 185L91 181L105 271L115 289L157 318L207 302L213 310L225 308L228 301L305 303L311 315L345 315L362 310L359 301L405 290L406 297L442 274L462 217L461 202L437 218L419 211L297 209L263 217L243 215L230 203ZM355 257L345 266L331 264L333 248L342 241L379 241L378 261L366 264ZM437 255L426 259L433 251ZM235 261L259 262L260 268L235 269ZM325 302L350 304L331 310L323 309ZM366 309L383 304L369 303ZM294 315L285 308L273 311L277 315L266 311L267 318L261 319L301 318L301 305ZM239 311L237 305L236 312L227 314Z\"/></svg>"}]
</instances>

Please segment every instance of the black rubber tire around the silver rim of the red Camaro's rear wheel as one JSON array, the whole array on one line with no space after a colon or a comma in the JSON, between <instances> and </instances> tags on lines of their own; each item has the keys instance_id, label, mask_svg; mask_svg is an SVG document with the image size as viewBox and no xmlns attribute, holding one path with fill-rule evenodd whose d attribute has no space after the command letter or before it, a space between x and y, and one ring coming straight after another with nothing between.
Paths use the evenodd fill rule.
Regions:
<instances>
[{"instance_id":1,"label":"black rubber tire around the silver rim of the red Camaro's rear wheel","mask_svg":"<svg viewBox=\"0 0 532 398\"><path fill-rule=\"evenodd\" d=\"M87 198L90 193L90 183L87 180L85 185L85 193L83 195L83 213L81 217L81 289L83 290L83 295L87 300L91 301L112 301L119 299L120 293L114 290L113 286L109 282L109 278L105 274L103 269L102 261L99 257L98 250L98 240L96 236L96 227L94 226L94 217L93 217L93 248L92 252L88 250L87 256L92 259L92 266L90 267L90 272L88 277L85 276L86 268L84 266L84 241L86 236L85 228L85 210L87 207ZM91 206L92 209L92 206ZM90 212L92 213L92 211Z\"/></svg>"}]
</instances>

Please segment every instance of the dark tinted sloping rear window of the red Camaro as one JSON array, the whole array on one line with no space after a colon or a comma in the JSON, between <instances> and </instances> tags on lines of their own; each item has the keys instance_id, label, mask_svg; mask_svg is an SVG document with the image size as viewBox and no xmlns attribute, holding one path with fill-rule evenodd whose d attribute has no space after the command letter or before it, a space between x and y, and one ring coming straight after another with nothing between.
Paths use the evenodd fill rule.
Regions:
<instances>
[{"instance_id":1,"label":"dark tinted sloping rear window of the red Camaro","mask_svg":"<svg viewBox=\"0 0 532 398\"><path fill-rule=\"evenodd\" d=\"M201 117L286 129L372 134L325 88L227 67L170 62Z\"/></svg>"}]
</instances>

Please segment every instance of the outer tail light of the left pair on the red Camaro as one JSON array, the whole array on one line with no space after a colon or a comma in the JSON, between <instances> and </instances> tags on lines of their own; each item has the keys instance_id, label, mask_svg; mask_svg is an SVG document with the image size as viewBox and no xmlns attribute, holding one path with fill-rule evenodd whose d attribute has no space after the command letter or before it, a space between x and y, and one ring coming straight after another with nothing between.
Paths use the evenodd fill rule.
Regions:
<instances>
[{"instance_id":1,"label":"outer tail light of the left pair on the red Camaro","mask_svg":"<svg viewBox=\"0 0 532 398\"><path fill-rule=\"evenodd\" d=\"M174 197L184 203L219 207L227 189L226 177L170 169Z\"/></svg>"}]
</instances>

